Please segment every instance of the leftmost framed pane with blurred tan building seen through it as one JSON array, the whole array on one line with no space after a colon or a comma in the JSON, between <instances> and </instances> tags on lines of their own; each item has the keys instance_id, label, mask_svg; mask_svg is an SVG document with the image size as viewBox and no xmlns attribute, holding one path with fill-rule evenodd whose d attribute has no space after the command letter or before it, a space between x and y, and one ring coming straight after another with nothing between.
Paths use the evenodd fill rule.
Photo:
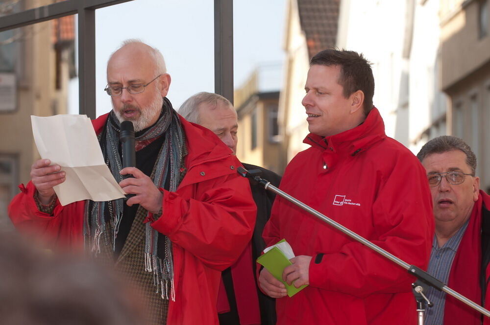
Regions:
<instances>
[{"instance_id":1,"label":"leftmost framed pane with blurred tan building seen through it","mask_svg":"<svg viewBox=\"0 0 490 325\"><path fill-rule=\"evenodd\" d=\"M73 16L63 17L8 31L15 37L0 45L3 62L12 68L0 73L0 137L8 139L0 143L0 228L11 224L8 203L39 159L30 116L67 113L68 82L76 73L75 29Z\"/></svg>"}]
</instances>

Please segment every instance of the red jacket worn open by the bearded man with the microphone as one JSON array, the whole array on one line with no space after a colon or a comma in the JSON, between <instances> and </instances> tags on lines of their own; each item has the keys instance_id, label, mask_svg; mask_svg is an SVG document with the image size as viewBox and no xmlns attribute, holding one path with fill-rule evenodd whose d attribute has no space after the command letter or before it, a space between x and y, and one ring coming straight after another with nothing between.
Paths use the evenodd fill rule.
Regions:
<instances>
[{"instance_id":1,"label":"red jacket worn open by the bearded man with the microphone","mask_svg":"<svg viewBox=\"0 0 490 325\"><path fill-rule=\"evenodd\" d=\"M93 121L99 133L107 115ZM164 190L163 215L151 226L173 243L175 302L167 324L218 324L216 302L221 270L229 267L250 241L256 207L240 162L212 132L181 118L188 142L188 169L176 192ZM21 188L22 189L22 188ZM29 183L9 206L14 225L40 232L55 246L81 247L85 202L40 212Z\"/></svg>"}]
</instances>

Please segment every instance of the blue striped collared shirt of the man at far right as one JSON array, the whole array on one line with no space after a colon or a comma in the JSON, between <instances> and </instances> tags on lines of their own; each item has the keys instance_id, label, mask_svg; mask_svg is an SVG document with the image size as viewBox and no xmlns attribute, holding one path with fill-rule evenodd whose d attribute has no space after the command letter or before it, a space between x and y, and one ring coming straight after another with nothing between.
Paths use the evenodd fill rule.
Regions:
<instances>
[{"instance_id":1,"label":"blue striped collared shirt of the man at far right","mask_svg":"<svg viewBox=\"0 0 490 325\"><path fill-rule=\"evenodd\" d=\"M449 279L449 271L451 270L451 265L453 264L453 259L458 250L461 238L465 234L468 221L469 219L441 248L439 248L437 237L434 235L427 273L444 283L447 283ZM434 303L434 306L425 309L424 325L441 325L444 320L446 293L433 287L429 287L426 290L426 296L429 301Z\"/></svg>"}]
</instances>

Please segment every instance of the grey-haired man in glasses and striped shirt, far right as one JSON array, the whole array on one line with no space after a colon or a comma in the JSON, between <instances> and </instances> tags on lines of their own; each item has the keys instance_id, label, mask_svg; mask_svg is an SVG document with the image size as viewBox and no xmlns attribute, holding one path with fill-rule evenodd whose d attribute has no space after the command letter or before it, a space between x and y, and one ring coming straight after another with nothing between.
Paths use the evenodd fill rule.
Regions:
<instances>
[{"instance_id":1,"label":"grey-haired man in glasses and striped shirt, far right","mask_svg":"<svg viewBox=\"0 0 490 325\"><path fill-rule=\"evenodd\" d=\"M427 142L417 158L431 188L435 236L428 272L474 302L485 304L490 260L490 196L479 190L476 156L462 140ZM482 316L444 292L429 288L434 303L425 325L479 325ZM488 320L487 320L488 321Z\"/></svg>"}]
</instances>

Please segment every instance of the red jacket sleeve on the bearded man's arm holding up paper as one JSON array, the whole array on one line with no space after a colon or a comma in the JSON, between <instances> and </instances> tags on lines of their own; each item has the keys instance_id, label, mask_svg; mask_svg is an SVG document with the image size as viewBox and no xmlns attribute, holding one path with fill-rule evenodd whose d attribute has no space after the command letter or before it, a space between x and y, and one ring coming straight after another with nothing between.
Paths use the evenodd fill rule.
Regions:
<instances>
[{"instance_id":1,"label":"red jacket sleeve on the bearded man's arm holding up paper","mask_svg":"<svg viewBox=\"0 0 490 325\"><path fill-rule=\"evenodd\" d=\"M53 214L39 211L34 201L36 187L29 182L19 186L17 194L8 206L8 215L16 229L31 239L40 240L49 248L81 247L81 215L83 201L65 207L56 199Z\"/></svg>"}]
</instances>

